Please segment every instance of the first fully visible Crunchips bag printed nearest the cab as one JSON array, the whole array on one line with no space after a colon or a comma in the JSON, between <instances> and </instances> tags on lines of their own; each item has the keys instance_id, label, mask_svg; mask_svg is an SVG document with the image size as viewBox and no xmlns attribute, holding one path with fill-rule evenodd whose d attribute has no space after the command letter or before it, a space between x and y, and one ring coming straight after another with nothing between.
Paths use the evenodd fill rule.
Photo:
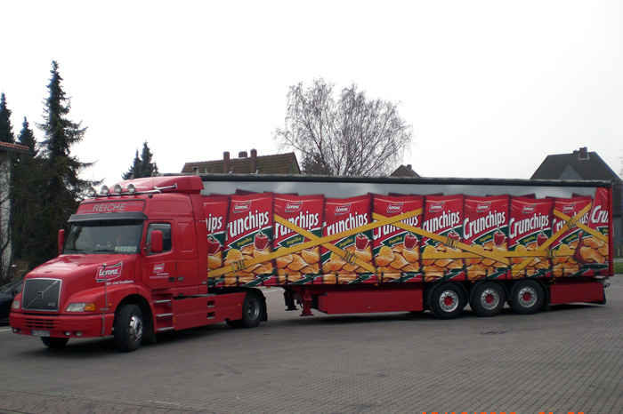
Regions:
<instances>
[{"instance_id":1,"label":"first fully visible Crunchips bag printed nearest the cab","mask_svg":"<svg viewBox=\"0 0 623 414\"><path fill-rule=\"evenodd\" d=\"M272 275L272 193L231 195L225 238L225 286L249 283L257 275Z\"/></svg>"}]
</instances>

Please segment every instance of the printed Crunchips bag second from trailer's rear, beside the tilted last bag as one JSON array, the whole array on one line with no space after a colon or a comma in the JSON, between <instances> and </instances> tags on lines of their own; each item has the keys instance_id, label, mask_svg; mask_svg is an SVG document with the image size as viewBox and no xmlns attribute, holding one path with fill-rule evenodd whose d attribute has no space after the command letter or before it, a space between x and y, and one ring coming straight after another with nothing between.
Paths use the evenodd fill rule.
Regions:
<instances>
[{"instance_id":1,"label":"printed Crunchips bag second from trailer's rear, beside the tilted last bag","mask_svg":"<svg viewBox=\"0 0 623 414\"><path fill-rule=\"evenodd\" d=\"M578 263L578 254L581 237L585 233L578 223L588 224L589 207L592 197L556 198L554 200L554 213L552 216L552 233L558 235L551 244L552 273L556 277L580 275L582 265ZM575 219L580 212L581 217Z\"/></svg>"}]
</instances>

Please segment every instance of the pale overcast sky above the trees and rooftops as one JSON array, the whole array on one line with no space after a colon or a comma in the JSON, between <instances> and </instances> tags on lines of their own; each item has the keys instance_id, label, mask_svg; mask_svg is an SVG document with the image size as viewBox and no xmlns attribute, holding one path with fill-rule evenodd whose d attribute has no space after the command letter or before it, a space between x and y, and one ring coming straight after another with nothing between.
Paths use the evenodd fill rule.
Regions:
<instances>
[{"instance_id":1,"label":"pale overcast sky above the trees and rooftops","mask_svg":"<svg viewBox=\"0 0 623 414\"><path fill-rule=\"evenodd\" d=\"M579 147L621 170L623 1L0 0L0 91L36 138L52 61L71 155L114 183L147 141L160 172L279 152L290 86L399 103L425 177L529 179Z\"/></svg>"}]
</instances>

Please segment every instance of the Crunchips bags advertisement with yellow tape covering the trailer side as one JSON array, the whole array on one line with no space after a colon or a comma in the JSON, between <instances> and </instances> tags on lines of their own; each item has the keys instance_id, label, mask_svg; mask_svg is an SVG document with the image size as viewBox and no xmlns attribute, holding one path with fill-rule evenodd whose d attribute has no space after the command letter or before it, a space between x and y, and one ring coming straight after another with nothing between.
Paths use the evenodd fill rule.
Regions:
<instances>
[{"instance_id":1,"label":"Crunchips bags advertisement with yellow tape covering the trailer side","mask_svg":"<svg viewBox=\"0 0 623 414\"><path fill-rule=\"evenodd\" d=\"M208 286L604 275L609 189L535 195L204 196Z\"/></svg>"}]
</instances>

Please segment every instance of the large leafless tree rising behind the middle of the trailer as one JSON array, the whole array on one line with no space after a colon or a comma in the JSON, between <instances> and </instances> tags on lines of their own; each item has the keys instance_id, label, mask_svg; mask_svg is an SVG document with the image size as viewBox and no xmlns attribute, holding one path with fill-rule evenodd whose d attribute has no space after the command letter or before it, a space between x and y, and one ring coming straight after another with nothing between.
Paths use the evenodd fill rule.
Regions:
<instances>
[{"instance_id":1,"label":"large leafless tree rising behind the middle of the trailer","mask_svg":"<svg viewBox=\"0 0 623 414\"><path fill-rule=\"evenodd\" d=\"M303 172L336 175L387 175L412 142L412 127L398 115L398 104L368 100L357 85L334 99L334 85L315 79L287 93L284 129L273 139L280 149L294 150Z\"/></svg>"}]
</instances>

